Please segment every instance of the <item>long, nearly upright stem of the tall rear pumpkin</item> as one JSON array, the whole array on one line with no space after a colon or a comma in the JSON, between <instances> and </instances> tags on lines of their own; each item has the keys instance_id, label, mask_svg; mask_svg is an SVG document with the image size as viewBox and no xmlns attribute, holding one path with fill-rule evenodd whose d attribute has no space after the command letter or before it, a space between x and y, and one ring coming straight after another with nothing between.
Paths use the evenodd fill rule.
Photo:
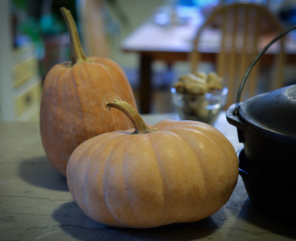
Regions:
<instances>
[{"instance_id":1,"label":"long, nearly upright stem of the tall rear pumpkin","mask_svg":"<svg viewBox=\"0 0 296 241\"><path fill-rule=\"evenodd\" d=\"M81 62L88 61L87 57L83 52L77 27L70 10L66 9L65 7L61 7L60 11L62 12L63 18L67 25L68 33L69 33L70 56L71 56L72 65L80 64Z\"/></svg>"}]
</instances>

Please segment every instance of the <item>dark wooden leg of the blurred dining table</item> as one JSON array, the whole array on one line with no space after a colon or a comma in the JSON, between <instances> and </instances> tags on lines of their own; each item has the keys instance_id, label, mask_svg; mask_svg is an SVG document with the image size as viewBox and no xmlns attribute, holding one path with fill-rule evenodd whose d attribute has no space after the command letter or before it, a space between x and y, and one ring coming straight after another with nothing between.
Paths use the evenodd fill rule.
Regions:
<instances>
[{"instance_id":1,"label":"dark wooden leg of the blurred dining table","mask_svg":"<svg viewBox=\"0 0 296 241\"><path fill-rule=\"evenodd\" d=\"M141 114L149 114L152 99L152 57L141 54L140 58L140 109Z\"/></svg>"}]
</instances>

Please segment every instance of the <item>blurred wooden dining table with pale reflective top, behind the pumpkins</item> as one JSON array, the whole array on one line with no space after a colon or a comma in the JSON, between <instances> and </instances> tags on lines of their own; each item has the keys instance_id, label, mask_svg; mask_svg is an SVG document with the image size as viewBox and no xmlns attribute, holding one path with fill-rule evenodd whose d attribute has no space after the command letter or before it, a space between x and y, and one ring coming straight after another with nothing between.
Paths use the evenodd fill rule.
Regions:
<instances>
[{"instance_id":1,"label":"blurred wooden dining table with pale reflective top, behind the pumpkins","mask_svg":"<svg viewBox=\"0 0 296 241\"><path fill-rule=\"evenodd\" d=\"M204 18L191 17L186 22L159 25L151 17L121 43L121 50L127 53L137 53L140 56L139 80L140 80L140 111L148 114L151 111L152 99L152 64L161 60L171 66L176 61L190 60L193 41L197 31L202 26ZM269 36L266 36L268 39ZM207 30L200 41L199 52L201 61L215 62L215 56L220 51L219 31ZM268 41L263 40L264 46ZM285 52L287 63L296 63L296 41L288 39L285 41ZM266 52L261 57L261 62L271 64L276 50Z\"/></svg>"}]
</instances>

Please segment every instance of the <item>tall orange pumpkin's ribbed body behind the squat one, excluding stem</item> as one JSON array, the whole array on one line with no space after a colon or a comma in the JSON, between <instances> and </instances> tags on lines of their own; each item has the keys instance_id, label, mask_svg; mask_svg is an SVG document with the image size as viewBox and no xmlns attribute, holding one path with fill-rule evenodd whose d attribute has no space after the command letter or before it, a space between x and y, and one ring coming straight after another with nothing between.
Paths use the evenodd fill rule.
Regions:
<instances>
[{"instance_id":1,"label":"tall orange pumpkin's ribbed body behind the squat one, excluding stem","mask_svg":"<svg viewBox=\"0 0 296 241\"><path fill-rule=\"evenodd\" d=\"M131 86L123 70L112 60L89 57L69 67L56 64L47 73L40 108L40 132L50 163L66 176L68 159L83 141L105 132L126 130L133 124L121 111L103 109L109 93L136 108Z\"/></svg>"}]
</instances>

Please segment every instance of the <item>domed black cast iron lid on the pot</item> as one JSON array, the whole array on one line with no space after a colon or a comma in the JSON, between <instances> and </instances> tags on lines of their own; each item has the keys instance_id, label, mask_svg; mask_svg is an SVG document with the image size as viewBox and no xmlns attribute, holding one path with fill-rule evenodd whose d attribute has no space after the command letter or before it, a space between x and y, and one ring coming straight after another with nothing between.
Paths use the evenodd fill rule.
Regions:
<instances>
[{"instance_id":1,"label":"domed black cast iron lid on the pot","mask_svg":"<svg viewBox=\"0 0 296 241\"><path fill-rule=\"evenodd\" d=\"M238 115L258 132L296 143L296 84L241 102Z\"/></svg>"}]
</instances>

